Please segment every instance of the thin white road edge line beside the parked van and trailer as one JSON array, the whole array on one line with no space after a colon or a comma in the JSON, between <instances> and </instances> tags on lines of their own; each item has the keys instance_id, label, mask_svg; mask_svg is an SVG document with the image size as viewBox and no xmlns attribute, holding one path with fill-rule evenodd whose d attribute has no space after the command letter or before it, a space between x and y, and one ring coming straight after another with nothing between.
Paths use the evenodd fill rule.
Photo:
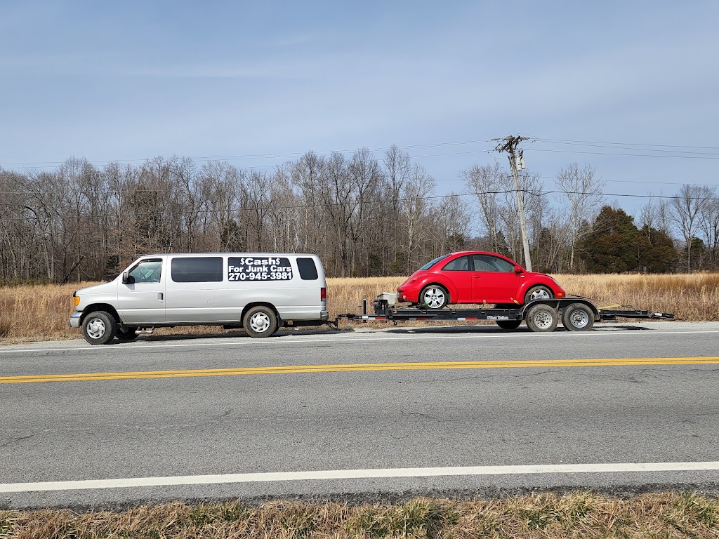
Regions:
<instances>
[{"instance_id":1,"label":"thin white road edge line beside the parked van and trailer","mask_svg":"<svg viewBox=\"0 0 719 539\"><path fill-rule=\"evenodd\" d=\"M418 328L422 329L422 328ZM367 332L369 333L369 332ZM364 332L355 333L358 335L367 334ZM700 330L700 331L651 331L651 333L641 333L643 335L674 335L682 333L719 333L718 330ZM497 333L483 333L477 335L462 335L454 333L452 335L400 335L400 336L388 336L388 337L356 337L356 338L317 338L317 339L293 339L288 340L285 338L277 338L272 341L267 339L262 340L262 343L256 342L255 339L239 342L218 342L218 343L174 343L174 344L137 344L137 345L115 345L115 346L78 346L76 348L27 348L27 349L5 349L0 350L0 354L24 354L31 352L66 352L66 351L122 351L122 350L137 350L137 349L160 349L160 348L188 348L191 346L245 346L250 344L312 344L312 343L336 343L336 342L353 342L362 344L367 341L407 341L412 339L414 341L429 340L429 339L446 339L446 338L493 338ZM533 336L562 336L562 337L590 337L590 336L624 336L624 335L637 335L636 331L572 331L567 333L502 333L503 338L507 337L519 337L529 338Z\"/></svg>"}]
</instances>

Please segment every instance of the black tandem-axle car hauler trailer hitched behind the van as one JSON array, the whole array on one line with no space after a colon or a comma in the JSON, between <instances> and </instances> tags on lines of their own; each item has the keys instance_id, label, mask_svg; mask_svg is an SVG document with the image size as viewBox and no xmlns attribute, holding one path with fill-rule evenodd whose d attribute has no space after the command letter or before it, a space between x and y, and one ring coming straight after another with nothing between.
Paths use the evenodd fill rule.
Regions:
<instances>
[{"instance_id":1,"label":"black tandem-axle car hauler trailer hitched behind the van","mask_svg":"<svg viewBox=\"0 0 719 539\"><path fill-rule=\"evenodd\" d=\"M651 310L618 310L597 308L587 298L572 297L561 299L534 300L525 305L500 306L499 308L397 308L396 295L383 292L372 301L374 314L367 312L367 300L362 300L362 314L341 314L335 321L495 321L500 328L516 329L524 321L531 331L554 331L559 322L569 331L589 331L595 322L616 322L620 318L659 318L674 320L671 313L656 313Z\"/></svg>"}]
</instances>

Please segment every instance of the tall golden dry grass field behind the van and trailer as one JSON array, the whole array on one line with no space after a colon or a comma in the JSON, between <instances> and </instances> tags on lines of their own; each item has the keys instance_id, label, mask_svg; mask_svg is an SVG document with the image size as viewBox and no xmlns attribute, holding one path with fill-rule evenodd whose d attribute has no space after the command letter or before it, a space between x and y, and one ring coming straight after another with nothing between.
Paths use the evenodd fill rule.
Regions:
<instances>
[{"instance_id":1,"label":"tall golden dry grass field behind the van and trailer","mask_svg":"<svg viewBox=\"0 0 719 539\"><path fill-rule=\"evenodd\" d=\"M591 298L599 307L633 305L674 313L679 320L719 320L719 274L555 275L567 292ZM331 318L357 313L362 298L393 292L404 277L327 280ZM0 288L0 343L80 338L68 327L73 290L89 285L28 285ZM157 333L216 333L216 327L161 329Z\"/></svg>"}]
</instances>

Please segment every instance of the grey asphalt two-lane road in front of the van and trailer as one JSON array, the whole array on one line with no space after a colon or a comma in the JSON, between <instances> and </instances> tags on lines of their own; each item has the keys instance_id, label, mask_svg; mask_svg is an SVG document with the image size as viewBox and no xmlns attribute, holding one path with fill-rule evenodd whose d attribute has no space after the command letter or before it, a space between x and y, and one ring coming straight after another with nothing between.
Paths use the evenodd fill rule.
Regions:
<instances>
[{"instance_id":1,"label":"grey asphalt two-lane road in front of the van and trailer","mask_svg":"<svg viewBox=\"0 0 719 539\"><path fill-rule=\"evenodd\" d=\"M588 333L465 326L4 346L0 506L564 487L719 493L718 356L719 323L682 322ZM584 361L636 358L649 364ZM380 365L388 363L404 365ZM125 374L87 379L110 372ZM60 381L15 383L37 375ZM709 464L636 471L632 463ZM527 468L570 464L585 468ZM334 479L216 477L301 471ZM215 477L197 478L206 475ZM137 478L152 481L125 486ZM126 481L30 485L100 479Z\"/></svg>"}]
</instances>

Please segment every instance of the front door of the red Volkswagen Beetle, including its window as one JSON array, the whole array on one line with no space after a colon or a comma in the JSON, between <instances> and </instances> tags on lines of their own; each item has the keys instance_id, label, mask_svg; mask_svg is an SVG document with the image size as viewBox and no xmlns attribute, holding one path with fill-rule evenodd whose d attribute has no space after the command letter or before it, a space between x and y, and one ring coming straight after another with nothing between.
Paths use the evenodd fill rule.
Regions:
<instances>
[{"instance_id":1,"label":"front door of the red Volkswagen Beetle, including its window","mask_svg":"<svg viewBox=\"0 0 719 539\"><path fill-rule=\"evenodd\" d=\"M472 295L474 303L523 303L517 290L523 274L514 272L514 264L491 254L473 254Z\"/></svg>"}]
</instances>

